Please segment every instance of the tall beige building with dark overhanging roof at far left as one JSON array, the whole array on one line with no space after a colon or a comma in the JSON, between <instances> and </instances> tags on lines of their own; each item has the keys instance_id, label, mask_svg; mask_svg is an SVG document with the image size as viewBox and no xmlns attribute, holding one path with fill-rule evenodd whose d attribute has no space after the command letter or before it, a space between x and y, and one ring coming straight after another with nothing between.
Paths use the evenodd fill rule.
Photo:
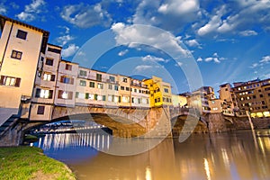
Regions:
<instances>
[{"instance_id":1,"label":"tall beige building with dark overhanging roof at far left","mask_svg":"<svg viewBox=\"0 0 270 180\"><path fill-rule=\"evenodd\" d=\"M45 54L49 31L0 15L0 125L28 114L39 59Z\"/></svg>"}]
</instances>

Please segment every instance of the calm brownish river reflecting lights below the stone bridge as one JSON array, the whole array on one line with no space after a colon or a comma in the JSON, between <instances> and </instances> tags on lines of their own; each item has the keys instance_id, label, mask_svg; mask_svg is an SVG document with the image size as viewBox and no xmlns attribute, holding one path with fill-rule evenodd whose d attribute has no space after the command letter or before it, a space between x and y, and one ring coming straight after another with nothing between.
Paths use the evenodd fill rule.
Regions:
<instances>
[{"instance_id":1,"label":"calm brownish river reflecting lights below the stone bridge","mask_svg":"<svg viewBox=\"0 0 270 180\"><path fill-rule=\"evenodd\" d=\"M96 150L110 149L113 139L94 132L47 134L33 146L66 163L78 179L270 179L269 135L270 130L193 134L133 156Z\"/></svg>"}]
</instances>

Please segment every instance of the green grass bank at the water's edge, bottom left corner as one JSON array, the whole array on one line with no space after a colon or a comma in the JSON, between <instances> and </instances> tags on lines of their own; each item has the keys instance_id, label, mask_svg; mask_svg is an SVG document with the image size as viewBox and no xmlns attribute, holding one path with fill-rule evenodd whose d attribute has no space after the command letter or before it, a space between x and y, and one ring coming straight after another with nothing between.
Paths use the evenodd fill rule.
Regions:
<instances>
[{"instance_id":1,"label":"green grass bank at the water's edge, bottom left corner","mask_svg":"<svg viewBox=\"0 0 270 180\"><path fill-rule=\"evenodd\" d=\"M67 166L34 147L0 148L0 179L76 179Z\"/></svg>"}]
</instances>

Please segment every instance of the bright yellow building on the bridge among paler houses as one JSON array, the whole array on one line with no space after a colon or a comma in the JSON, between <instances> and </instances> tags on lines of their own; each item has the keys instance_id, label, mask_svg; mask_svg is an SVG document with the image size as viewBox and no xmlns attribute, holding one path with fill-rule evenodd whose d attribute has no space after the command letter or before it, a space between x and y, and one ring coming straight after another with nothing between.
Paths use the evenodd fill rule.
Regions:
<instances>
[{"instance_id":1,"label":"bright yellow building on the bridge among paler houses","mask_svg":"<svg viewBox=\"0 0 270 180\"><path fill-rule=\"evenodd\" d=\"M144 79L143 81L145 85L148 85L150 92L150 107L173 105L171 85L169 83L163 82L162 78L157 76L152 76L152 78Z\"/></svg>"}]
</instances>

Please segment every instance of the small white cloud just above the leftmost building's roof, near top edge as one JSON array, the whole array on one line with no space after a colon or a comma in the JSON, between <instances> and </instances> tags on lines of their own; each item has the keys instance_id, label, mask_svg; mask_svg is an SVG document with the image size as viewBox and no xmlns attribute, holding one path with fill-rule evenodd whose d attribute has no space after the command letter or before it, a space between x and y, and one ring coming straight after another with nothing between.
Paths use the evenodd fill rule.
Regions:
<instances>
[{"instance_id":1,"label":"small white cloud just above the leftmost building's roof, near top edge","mask_svg":"<svg viewBox=\"0 0 270 180\"><path fill-rule=\"evenodd\" d=\"M32 0L31 4L25 5L24 11L17 14L16 17L21 21L31 22L36 19L38 14L43 12L45 4L43 0Z\"/></svg>"}]
</instances>

